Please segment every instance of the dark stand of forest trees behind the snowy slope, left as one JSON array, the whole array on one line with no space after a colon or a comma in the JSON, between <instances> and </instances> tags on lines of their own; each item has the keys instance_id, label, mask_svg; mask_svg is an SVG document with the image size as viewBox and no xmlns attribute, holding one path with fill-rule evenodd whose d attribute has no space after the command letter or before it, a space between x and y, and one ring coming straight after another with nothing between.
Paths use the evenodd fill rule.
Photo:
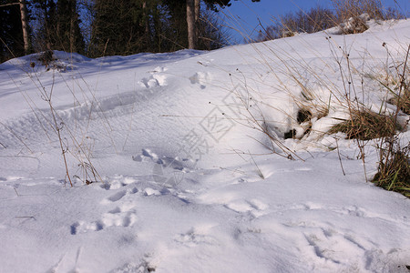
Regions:
<instances>
[{"instance_id":1,"label":"dark stand of forest trees behind the snowy slope, left","mask_svg":"<svg viewBox=\"0 0 410 273\"><path fill-rule=\"evenodd\" d=\"M252 0L252 2L260 0ZM231 0L0 0L0 62L46 50L85 56L216 49Z\"/></svg>"}]
</instances>

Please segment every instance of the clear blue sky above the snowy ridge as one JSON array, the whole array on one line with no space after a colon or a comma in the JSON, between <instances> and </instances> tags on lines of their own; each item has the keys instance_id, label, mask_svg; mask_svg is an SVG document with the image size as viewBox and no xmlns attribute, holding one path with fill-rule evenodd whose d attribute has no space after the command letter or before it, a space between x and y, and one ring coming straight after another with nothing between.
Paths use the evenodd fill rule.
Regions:
<instances>
[{"instance_id":1,"label":"clear blue sky above the snowy ridge","mask_svg":"<svg viewBox=\"0 0 410 273\"><path fill-rule=\"evenodd\" d=\"M332 8L331 0L261 0L259 3L252 3L251 0L231 1L231 7L222 10L221 14L234 17L235 23L228 20L227 24L235 30L231 35L238 42L243 40L242 36L258 34L259 21L264 26L272 25L272 17L278 17L300 9L309 10L313 6L321 5ZM409 0L382 0L384 6L395 7L397 3L402 13L408 15L410 10ZM253 31L253 32L252 32Z\"/></svg>"}]
</instances>

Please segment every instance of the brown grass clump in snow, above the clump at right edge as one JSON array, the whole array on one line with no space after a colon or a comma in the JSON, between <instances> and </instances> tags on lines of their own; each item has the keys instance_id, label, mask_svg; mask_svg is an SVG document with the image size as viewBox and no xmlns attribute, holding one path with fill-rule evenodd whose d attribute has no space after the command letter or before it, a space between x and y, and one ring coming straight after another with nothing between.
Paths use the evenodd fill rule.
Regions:
<instances>
[{"instance_id":1,"label":"brown grass clump in snow, above the clump at right edge","mask_svg":"<svg viewBox=\"0 0 410 273\"><path fill-rule=\"evenodd\" d=\"M397 129L399 128L393 116L377 114L370 110L352 110L351 119L333 126L329 133L343 132L348 139L370 140L395 135Z\"/></svg>"}]
</instances>

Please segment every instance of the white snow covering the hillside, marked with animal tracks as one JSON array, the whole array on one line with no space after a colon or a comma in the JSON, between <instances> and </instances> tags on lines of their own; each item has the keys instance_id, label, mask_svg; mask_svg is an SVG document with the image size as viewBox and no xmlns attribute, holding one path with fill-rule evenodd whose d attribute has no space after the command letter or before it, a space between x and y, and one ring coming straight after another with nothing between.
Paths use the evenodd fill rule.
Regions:
<instances>
[{"instance_id":1,"label":"white snow covering the hillside, marked with animal tracks","mask_svg":"<svg viewBox=\"0 0 410 273\"><path fill-rule=\"evenodd\" d=\"M409 34L5 62L0 272L409 272L409 199L368 182L375 141L364 164L325 134L347 97L394 111L380 82Z\"/></svg>"}]
</instances>

